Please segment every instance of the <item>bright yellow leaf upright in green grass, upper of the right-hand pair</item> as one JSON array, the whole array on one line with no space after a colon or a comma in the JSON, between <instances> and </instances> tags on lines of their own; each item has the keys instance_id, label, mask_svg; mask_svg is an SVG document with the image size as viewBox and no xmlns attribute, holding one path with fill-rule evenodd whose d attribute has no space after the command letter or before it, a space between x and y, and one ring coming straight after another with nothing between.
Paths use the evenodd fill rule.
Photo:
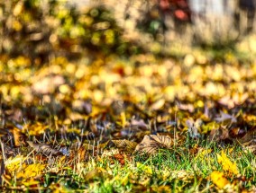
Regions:
<instances>
[{"instance_id":1,"label":"bright yellow leaf upright in green grass, upper of the right-hand pair","mask_svg":"<svg viewBox=\"0 0 256 193\"><path fill-rule=\"evenodd\" d=\"M222 151L222 154L217 154L217 161L222 165L223 170L227 171L229 174L238 174L238 168L235 162L231 162L230 159L224 154L224 151Z\"/></svg>"}]
</instances>

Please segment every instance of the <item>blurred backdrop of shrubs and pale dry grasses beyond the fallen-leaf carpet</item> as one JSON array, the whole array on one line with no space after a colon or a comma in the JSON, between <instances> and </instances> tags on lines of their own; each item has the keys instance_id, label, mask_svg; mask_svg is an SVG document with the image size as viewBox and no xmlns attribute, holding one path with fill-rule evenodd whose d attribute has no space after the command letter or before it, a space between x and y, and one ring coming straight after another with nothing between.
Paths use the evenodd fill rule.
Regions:
<instances>
[{"instance_id":1,"label":"blurred backdrop of shrubs and pale dry grasses beyond the fallen-leaf carpet","mask_svg":"<svg viewBox=\"0 0 256 193\"><path fill-rule=\"evenodd\" d=\"M22 0L0 3L0 52L184 57L191 48L256 53L255 0Z\"/></svg>"}]
</instances>

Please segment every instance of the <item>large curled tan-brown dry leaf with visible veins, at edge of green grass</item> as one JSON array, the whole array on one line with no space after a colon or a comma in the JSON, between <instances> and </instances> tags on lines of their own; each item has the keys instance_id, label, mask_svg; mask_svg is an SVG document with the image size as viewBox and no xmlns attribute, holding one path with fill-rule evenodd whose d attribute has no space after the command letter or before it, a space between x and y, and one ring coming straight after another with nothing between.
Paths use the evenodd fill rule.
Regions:
<instances>
[{"instance_id":1,"label":"large curled tan-brown dry leaf with visible veins, at edge of green grass","mask_svg":"<svg viewBox=\"0 0 256 193\"><path fill-rule=\"evenodd\" d=\"M158 149L170 149L173 140L169 136L144 136L141 144L136 146L135 152L145 154L156 154Z\"/></svg>"}]
</instances>

